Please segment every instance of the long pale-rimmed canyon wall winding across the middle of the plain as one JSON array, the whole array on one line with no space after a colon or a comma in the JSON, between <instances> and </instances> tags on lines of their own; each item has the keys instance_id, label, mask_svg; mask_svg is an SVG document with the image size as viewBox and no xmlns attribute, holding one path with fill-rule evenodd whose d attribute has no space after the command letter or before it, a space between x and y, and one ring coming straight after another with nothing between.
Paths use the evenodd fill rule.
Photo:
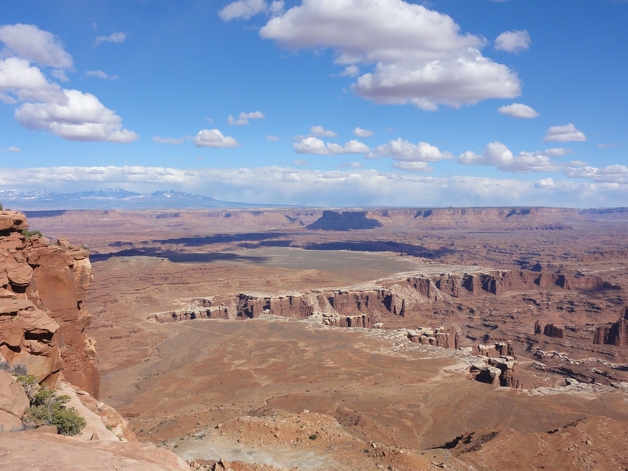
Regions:
<instances>
[{"instance_id":1,"label":"long pale-rimmed canyon wall winding across the middle of the plain","mask_svg":"<svg viewBox=\"0 0 628 471\"><path fill-rule=\"evenodd\" d=\"M497 296L509 291L615 289L595 275L548 271L487 271L463 274L411 276L382 281L370 289L309 290L283 295L237 293L191 300L190 311L160 313L151 318L172 322L194 318L256 318L263 313L305 319L322 313L329 325L372 327L393 316L404 317L410 305L436 303L476 296ZM541 326L535 327L541 333ZM558 337L561 329L544 328L545 335Z\"/></svg>"}]
</instances>

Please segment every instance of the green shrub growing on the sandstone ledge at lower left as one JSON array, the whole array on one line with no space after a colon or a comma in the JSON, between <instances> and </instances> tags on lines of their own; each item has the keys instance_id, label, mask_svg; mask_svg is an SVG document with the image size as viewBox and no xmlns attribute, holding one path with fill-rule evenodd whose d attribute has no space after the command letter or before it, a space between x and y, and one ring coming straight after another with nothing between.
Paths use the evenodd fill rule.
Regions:
<instances>
[{"instance_id":1,"label":"green shrub growing on the sandstone ledge at lower left","mask_svg":"<svg viewBox=\"0 0 628 471\"><path fill-rule=\"evenodd\" d=\"M38 378L32 374L18 376L30 401L30 408L22 420L27 426L54 425L61 435L78 435L87 423L73 407L66 407L69 396L57 396L57 391L40 386Z\"/></svg>"}]
</instances>

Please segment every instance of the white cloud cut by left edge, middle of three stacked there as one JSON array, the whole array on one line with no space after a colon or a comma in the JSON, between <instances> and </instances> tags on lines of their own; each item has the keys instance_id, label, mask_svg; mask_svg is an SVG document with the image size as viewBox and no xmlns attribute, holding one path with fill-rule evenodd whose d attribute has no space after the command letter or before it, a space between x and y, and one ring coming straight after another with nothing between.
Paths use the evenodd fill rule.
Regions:
<instances>
[{"instance_id":1,"label":"white cloud cut by left edge, middle of three stacked there","mask_svg":"<svg viewBox=\"0 0 628 471\"><path fill-rule=\"evenodd\" d=\"M0 100L14 104L17 102L14 97L22 101L67 102L61 87L48 82L40 69L28 60L8 57L0 60Z\"/></svg>"}]
</instances>

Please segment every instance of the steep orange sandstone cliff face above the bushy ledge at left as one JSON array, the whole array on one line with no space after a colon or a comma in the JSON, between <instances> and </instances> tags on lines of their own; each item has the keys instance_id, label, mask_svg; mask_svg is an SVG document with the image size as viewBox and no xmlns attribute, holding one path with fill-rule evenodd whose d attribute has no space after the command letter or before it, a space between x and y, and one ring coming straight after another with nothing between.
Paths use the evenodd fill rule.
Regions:
<instances>
[{"instance_id":1,"label":"steep orange sandstone cliff face above the bushy ledge at left","mask_svg":"<svg viewBox=\"0 0 628 471\"><path fill-rule=\"evenodd\" d=\"M10 222L10 224L9 224ZM23 214L0 211L0 354L54 383L60 376L98 397L95 342L84 335L89 252L25 237Z\"/></svg>"}]
</instances>

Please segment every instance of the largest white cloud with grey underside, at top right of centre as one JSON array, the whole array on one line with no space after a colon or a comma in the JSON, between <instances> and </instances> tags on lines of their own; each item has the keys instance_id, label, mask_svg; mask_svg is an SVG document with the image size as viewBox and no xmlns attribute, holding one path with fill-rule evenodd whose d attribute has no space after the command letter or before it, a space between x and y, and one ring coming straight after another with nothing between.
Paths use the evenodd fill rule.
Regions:
<instances>
[{"instance_id":1,"label":"largest white cloud with grey underside, at top right of centre","mask_svg":"<svg viewBox=\"0 0 628 471\"><path fill-rule=\"evenodd\" d=\"M332 48L345 72L374 65L352 90L377 103L435 110L521 92L516 73L482 56L483 38L403 0L303 0L269 20L260 35L291 49Z\"/></svg>"}]
</instances>

